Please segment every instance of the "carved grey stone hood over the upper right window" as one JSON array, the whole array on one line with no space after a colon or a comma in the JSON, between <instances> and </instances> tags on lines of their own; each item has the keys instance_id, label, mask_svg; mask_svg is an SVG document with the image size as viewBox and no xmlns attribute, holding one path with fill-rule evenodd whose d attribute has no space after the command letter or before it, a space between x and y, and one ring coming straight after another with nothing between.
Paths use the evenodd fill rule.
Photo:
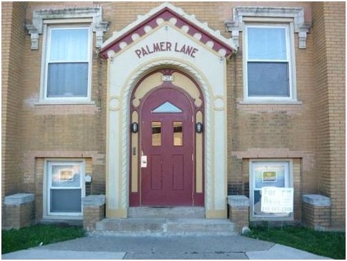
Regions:
<instances>
[{"instance_id":1,"label":"carved grey stone hood over the upper right window","mask_svg":"<svg viewBox=\"0 0 347 261\"><path fill-rule=\"evenodd\" d=\"M233 8L233 21L227 21L225 26L231 32L233 43L239 47L239 32L243 30L243 17L292 18L294 32L299 34L299 49L306 49L306 36L311 23L304 21L304 8L276 7L238 7Z\"/></svg>"}]
</instances>

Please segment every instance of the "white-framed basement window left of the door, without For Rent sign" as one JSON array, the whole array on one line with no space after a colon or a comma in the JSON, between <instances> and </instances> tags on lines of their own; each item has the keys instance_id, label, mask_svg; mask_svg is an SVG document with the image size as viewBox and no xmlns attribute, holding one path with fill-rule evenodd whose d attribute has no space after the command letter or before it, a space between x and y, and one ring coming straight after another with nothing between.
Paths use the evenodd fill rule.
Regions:
<instances>
[{"instance_id":1,"label":"white-framed basement window left of the door, without For Rent sign","mask_svg":"<svg viewBox=\"0 0 347 261\"><path fill-rule=\"evenodd\" d=\"M45 160L43 218L81 220L83 197L85 197L84 160ZM64 199L66 202L59 202Z\"/></svg>"}]
</instances>

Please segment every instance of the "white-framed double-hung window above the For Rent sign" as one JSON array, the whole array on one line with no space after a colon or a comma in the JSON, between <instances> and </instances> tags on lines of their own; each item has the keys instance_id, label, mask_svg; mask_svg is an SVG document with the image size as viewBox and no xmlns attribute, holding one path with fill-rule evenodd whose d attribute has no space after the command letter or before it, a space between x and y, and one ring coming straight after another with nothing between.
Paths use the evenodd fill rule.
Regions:
<instances>
[{"instance_id":1,"label":"white-framed double-hung window above the For Rent sign","mask_svg":"<svg viewBox=\"0 0 347 261\"><path fill-rule=\"evenodd\" d=\"M264 22L264 19L245 18L243 32L244 102L297 102L294 33L291 19L286 19L283 22L278 19L268 19ZM266 50L266 46L269 46L269 44L265 44L264 41L266 41L266 37L271 38L271 32L272 36L277 37L276 41L270 40L273 43L273 50L277 52L270 52L270 49ZM277 35L274 33L277 33ZM278 38L281 37L280 34L282 34L282 44L278 41ZM251 39L251 35L252 37L258 36L261 41L260 45L250 44L251 41L256 41L256 39ZM264 46L265 48L261 48ZM280 51L282 55L277 55ZM255 52L258 54L255 54ZM257 78L249 81L253 76L250 69L251 65L263 65L263 67L259 67L260 71L254 74ZM277 67L282 72L285 70L282 81L278 81L279 77L271 75L271 72L274 72ZM268 73L268 77L264 77L266 73ZM282 90L280 88L276 89L280 85L282 85ZM258 88L260 86L263 90Z\"/></svg>"}]
</instances>

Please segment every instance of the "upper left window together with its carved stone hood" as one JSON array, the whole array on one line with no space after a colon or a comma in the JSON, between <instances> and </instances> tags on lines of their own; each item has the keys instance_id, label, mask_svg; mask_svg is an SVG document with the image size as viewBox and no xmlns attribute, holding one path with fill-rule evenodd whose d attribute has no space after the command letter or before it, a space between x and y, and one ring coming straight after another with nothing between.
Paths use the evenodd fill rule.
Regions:
<instances>
[{"instance_id":1,"label":"upper left window together with its carved stone hood","mask_svg":"<svg viewBox=\"0 0 347 261\"><path fill-rule=\"evenodd\" d=\"M109 22L101 7L43 9L26 23L31 50L39 50L43 35L39 104L93 103L92 48L103 44Z\"/></svg>"}]
</instances>

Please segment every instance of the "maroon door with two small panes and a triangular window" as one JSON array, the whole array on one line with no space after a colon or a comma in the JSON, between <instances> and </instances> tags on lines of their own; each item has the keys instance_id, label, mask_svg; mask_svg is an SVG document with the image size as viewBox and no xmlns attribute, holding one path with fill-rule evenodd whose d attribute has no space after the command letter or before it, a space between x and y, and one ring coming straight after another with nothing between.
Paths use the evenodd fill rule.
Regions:
<instances>
[{"instance_id":1,"label":"maroon door with two small panes and a triangular window","mask_svg":"<svg viewBox=\"0 0 347 261\"><path fill-rule=\"evenodd\" d=\"M193 108L189 98L162 87L145 98L140 113L141 205L193 205Z\"/></svg>"}]
</instances>

